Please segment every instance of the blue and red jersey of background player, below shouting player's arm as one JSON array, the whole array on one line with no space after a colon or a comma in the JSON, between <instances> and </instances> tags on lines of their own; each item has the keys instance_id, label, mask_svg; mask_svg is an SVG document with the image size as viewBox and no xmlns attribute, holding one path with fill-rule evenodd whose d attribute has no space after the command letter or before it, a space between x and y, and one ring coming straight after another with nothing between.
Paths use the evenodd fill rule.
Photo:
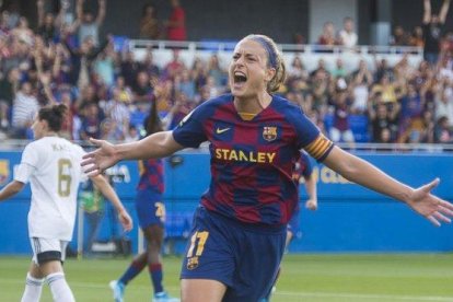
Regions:
<instances>
[{"instance_id":1,"label":"blue and red jersey of background player, below shouting player's arm","mask_svg":"<svg viewBox=\"0 0 453 302\"><path fill-rule=\"evenodd\" d=\"M150 159L139 161L140 179L137 189L152 189L156 193L163 194L164 178L163 178L163 162L161 159Z\"/></svg>"}]
</instances>

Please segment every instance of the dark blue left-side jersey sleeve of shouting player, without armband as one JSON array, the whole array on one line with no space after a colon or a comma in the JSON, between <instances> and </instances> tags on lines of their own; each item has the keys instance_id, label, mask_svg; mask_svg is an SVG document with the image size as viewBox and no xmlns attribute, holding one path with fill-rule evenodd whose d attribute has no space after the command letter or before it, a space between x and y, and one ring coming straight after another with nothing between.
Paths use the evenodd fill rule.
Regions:
<instances>
[{"instance_id":1,"label":"dark blue left-side jersey sleeve of shouting player, without armband","mask_svg":"<svg viewBox=\"0 0 453 302\"><path fill-rule=\"evenodd\" d=\"M177 125L173 130L173 138L177 143L186 148L198 148L208 140L202 126L205 112L206 106L198 106Z\"/></svg>"}]
</instances>

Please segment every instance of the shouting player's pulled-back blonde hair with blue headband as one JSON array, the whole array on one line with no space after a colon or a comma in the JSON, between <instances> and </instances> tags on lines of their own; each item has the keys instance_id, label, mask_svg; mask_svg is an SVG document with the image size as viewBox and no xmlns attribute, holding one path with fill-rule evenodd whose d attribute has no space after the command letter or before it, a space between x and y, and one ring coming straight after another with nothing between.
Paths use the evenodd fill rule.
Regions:
<instances>
[{"instance_id":1,"label":"shouting player's pulled-back blonde hair with blue headband","mask_svg":"<svg viewBox=\"0 0 453 302\"><path fill-rule=\"evenodd\" d=\"M272 93L279 90L280 85L287 78L287 68L284 66L283 56L277 47L277 44L266 35L248 35L243 39L252 39L259 43L267 53L267 67L274 68L276 74L267 83L267 92Z\"/></svg>"}]
</instances>

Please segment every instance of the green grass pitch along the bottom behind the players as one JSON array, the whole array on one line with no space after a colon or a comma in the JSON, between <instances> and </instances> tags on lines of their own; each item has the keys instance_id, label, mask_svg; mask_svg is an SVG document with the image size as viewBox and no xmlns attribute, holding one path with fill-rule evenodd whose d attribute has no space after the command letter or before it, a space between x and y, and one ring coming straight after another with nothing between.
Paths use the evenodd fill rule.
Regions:
<instances>
[{"instance_id":1,"label":"green grass pitch along the bottom behind the players","mask_svg":"<svg viewBox=\"0 0 453 302\"><path fill-rule=\"evenodd\" d=\"M77 301L113 301L107 284L130 258L68 259L67 279ZM30 257L0 257L0 301L20 301ZM181 258L164 258L164 280L179 297ZM143 274L144 272L144 274ZM148 272L126 289L127 302L151 301ZM51 301L47 286L40 301ZM391 302L453 301L453 255L286 255L271 301Z\"/></svg>"}]
</instances>

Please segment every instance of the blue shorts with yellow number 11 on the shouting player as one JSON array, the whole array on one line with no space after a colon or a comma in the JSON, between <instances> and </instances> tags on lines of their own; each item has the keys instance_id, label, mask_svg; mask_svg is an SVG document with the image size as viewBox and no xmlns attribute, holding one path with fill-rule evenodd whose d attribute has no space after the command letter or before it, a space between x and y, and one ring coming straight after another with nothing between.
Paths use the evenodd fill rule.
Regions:
<instances>
[{"instance_id":1,"label":"blue shorts with yellow number 11 on the shouting player","mask_svg":"<svg viewBox=\"0 0 453 302\"><path fill-rule=\"evenodd\" d=\"M226 286L222 301L259 301L272 288L286 236L284 226L242 223L199 207L181 278L222 282Z\"/></svg>"}]
</instances>

